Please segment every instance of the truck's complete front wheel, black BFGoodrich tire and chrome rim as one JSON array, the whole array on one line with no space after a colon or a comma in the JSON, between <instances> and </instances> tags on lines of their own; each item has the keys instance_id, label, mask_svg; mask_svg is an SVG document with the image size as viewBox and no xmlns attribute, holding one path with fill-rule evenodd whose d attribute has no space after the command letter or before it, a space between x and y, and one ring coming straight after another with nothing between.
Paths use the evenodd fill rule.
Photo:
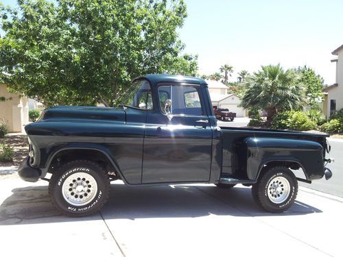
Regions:
<instances>
[{"instance_id":1,"label":"truck's complete front wheel, black BFGoodrich tire and chrome rim","mask_svg":"<svg viewBox=\"0 0 343 257\"><path fill-rule=\"evenodd\" d=\"M99 211L110 193L110 180L95 162L75 160L51 175L49 195L62 214L82 217Z\"/></svg>"}]
</instances>

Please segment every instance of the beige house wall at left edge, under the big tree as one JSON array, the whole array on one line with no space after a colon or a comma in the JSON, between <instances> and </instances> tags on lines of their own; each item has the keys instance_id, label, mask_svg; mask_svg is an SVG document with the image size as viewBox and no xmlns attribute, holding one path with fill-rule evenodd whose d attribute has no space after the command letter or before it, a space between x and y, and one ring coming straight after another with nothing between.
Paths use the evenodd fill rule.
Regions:
<instances>
[{"instance_id":1,"label":"beige house wall at left edge, under the big tree","mask_svg":"<svg viewBox=\"0 0 343 257\"><path fill-rule=\"evenodd\" d=\"M9 93L5 84L0 84L0 123L8 126L9 132L22 132L23 126L29 123L27 97Z\"/></svg>"}]
</instances>

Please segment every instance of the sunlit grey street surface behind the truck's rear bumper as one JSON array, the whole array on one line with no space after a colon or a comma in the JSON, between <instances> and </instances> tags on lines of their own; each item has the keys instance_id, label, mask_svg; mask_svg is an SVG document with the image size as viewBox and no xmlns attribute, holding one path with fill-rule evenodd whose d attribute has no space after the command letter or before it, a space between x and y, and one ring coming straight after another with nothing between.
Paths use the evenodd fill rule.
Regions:
<instances>
[{"instance_id":1,"label":"sunlit grey street surface behind the truck's rear bumper","mask_svg":"<svg viewBox=\"0 0 343 257\"><path fill-rule=\"evenodd\" d=\"M301 183L301 186L312 188L330 195L343 197L343 139L329 138L331 153L327 157L334 158L335 162L327 164L333 172L330 180L314 180L312 184Z\"/></svg>"}]
</instances>

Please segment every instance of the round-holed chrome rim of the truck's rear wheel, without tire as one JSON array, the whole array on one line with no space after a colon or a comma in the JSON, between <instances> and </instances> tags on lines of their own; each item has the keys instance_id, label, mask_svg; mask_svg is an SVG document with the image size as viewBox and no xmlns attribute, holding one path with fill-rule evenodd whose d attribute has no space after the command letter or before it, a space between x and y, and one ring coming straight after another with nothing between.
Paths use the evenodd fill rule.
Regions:
<instances>
[{"instance_id":1,"label":"round-holed chrome rim of the truck's rear wheel, without tire","mask_svg":"<svg viewBox=\"0 0 343 257\"><path fill-rule=\"evenodd\" d=\"M274 204L281 204L289 196L290 185L286 178L284 177L275 177L268 184L268 198Z\"/></svg>"}]
</instances>

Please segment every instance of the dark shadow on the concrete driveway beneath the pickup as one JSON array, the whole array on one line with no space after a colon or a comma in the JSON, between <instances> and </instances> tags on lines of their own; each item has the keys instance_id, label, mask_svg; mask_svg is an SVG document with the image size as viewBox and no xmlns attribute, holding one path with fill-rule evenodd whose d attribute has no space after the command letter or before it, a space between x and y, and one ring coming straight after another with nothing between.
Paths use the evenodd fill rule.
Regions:
<instances>
[{"instance_id":1,"label":"dark shadow on the concrete driveway beneath the pickup","mask_svg":"<svg viewBox=\"0 0 343 257\"><path fill-rule=\"evenodd\" d=\"M71 218L60 215L51 204L47 186L14 188L0 205L0 225L54 223L95 219L145 219L159 217L235 217L308 215L322 212L296 201L281 214L261 210L252 200L250 188L217 188L213 185L130 187L112 184L102 215Z\"/></svg>"}]
</instances>

